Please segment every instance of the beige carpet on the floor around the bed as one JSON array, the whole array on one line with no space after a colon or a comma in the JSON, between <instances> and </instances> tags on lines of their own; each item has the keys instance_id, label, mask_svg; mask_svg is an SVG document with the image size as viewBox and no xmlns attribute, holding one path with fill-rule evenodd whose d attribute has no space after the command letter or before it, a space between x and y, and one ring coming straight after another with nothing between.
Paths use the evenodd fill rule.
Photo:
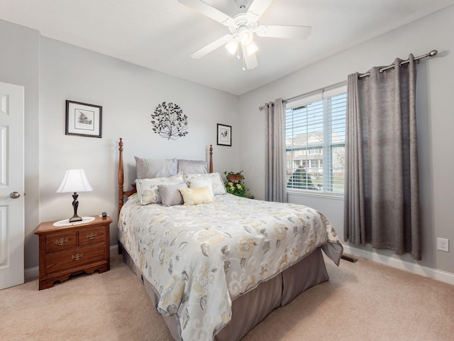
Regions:
<instances>
[{"instance_id":1,"label":"beige carpet on the floor around the bed","mask_svg":"<svg viewBox=\"0 0 454 341\"><path fill-rule=\"evenodd\" d=\"M244 341L454 340L454 286L360 259L327 260L330 281L274 310ZM121 261L38 291L0 291L0 340L172 340Z\"/></svg>"}]
</instances>

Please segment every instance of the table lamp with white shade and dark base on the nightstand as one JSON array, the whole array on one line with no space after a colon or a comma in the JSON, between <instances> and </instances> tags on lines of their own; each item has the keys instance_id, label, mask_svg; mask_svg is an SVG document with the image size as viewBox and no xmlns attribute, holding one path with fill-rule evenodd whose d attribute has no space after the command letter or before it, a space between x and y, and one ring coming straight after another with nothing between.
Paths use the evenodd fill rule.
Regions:
<instances>
[{"instance_id":1,"label":"table lamp with white shade and dark base on the nightstand","mask_svg":"<svg viewBox=\"0 0 454 341\"><path fill-rule=\"evenodd\" d=\"M82 218L77 215L77 207L79 207L79 196L77 192L91 192L92 186L88 182L87 175L83 169L67 169L62 184L55 193L74 193L72 195L72 207L74 207L74 215L70 218L70 222L80 222Z\"/></svg>"}]
</instances>

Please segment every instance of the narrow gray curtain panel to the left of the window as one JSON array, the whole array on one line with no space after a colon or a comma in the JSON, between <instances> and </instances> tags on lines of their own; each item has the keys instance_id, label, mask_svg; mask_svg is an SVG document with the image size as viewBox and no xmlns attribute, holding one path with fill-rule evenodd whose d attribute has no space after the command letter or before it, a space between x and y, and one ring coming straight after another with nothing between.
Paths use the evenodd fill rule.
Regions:
<instances>
[{"instance_id":1,"label":"narrow gray curtain panel to the left of the window","mask_svg":"<svg viewBox=\"0 0 454 341\"><path fill-rule=\"evenodd\" d=\"M285 173L285 104L282 98L265 110L265 200L287 202Z\"/></svg>"}]
</instances>

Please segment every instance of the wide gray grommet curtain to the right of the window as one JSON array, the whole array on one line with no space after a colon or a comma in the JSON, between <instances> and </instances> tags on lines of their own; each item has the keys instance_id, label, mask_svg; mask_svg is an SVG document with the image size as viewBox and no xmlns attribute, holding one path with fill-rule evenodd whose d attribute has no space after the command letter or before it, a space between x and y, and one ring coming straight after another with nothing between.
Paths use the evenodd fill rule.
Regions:
<instances>
[{"instance_id":1,"label":"wide gray grommet curtain to the right of the window","mask_svg":"<svg viewBox=\"0 0 454 341\"><path fill-rule=\"evenodd\" d=\"M421 259L416 65L348 76L344 240Z\"/></svg>"}]
</instances>

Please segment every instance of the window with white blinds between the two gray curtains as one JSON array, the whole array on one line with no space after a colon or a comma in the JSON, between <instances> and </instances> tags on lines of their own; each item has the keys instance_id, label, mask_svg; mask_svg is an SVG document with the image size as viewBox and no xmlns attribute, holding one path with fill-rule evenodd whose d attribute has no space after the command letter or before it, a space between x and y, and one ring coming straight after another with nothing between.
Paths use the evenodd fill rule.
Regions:
<instances>
[{"instance_id":1,"label":"window with white blinds between the two gray curtains","mask_svg":"<svg viewBox=\"0 0 454 341\"><path fill-rule=\"evenodd\" d=\"M345 87L287 102L287 188L343 195Z\"/></svg>"}]
</instances>

